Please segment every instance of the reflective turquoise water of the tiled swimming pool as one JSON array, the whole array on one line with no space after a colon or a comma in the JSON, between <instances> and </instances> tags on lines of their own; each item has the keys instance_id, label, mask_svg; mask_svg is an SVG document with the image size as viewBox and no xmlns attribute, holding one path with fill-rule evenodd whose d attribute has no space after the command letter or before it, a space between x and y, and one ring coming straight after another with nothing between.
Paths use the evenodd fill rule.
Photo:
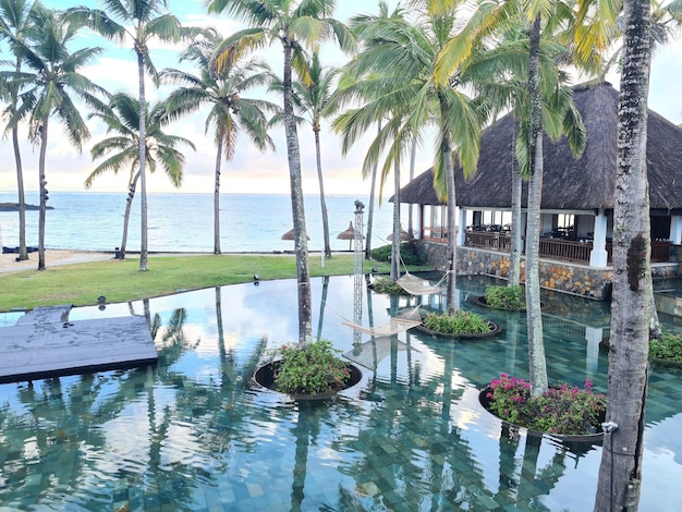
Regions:
<instances>
[{"instance_id":1,"label":"reflective turquoise water of the tiled swimming pool","mask_svg":"<svg viewBox=\"0 0 682 512\"><path fill-rule=\"evenodd\" d=\"M356 357L362 349L372 366L358 387L314 404L249 383L268 351L296 339L294 281L76 308L71 318L147 315L159 364L0 386L0 510L592 510L598 446L509 438L478 404L501 371L527 376L524 317L468 301L491 282L458 287L461 307L499 322L499 337L452 342L412 329L373 343L341 324L354 316L353 277L313 280L314 332ZM364 284L363 326L415 304ZM606 390L608 305L547 298L550 381ZM651 370L642 511L682 510L680 377Z\"/></svg>"}]
</instances>

